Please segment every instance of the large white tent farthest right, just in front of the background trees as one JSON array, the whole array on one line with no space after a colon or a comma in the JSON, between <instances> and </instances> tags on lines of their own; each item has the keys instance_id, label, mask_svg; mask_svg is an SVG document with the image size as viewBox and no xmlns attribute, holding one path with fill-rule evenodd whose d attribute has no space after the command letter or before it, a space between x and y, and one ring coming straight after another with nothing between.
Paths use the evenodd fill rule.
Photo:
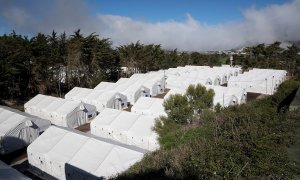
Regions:
<instances>
[{"instance_id":1,"label":"large white tent farthest right, just in front of the background trees","mask_svg":"<svg viewBox=\"0 0 300 180\"><path fill-rule=\"evenodd\" d=\"M228 87L240 87L246 89L247 92L272 95L285 81L286 74L285 70L254 68L229 79Z\"/></svg>"}]
</instances>

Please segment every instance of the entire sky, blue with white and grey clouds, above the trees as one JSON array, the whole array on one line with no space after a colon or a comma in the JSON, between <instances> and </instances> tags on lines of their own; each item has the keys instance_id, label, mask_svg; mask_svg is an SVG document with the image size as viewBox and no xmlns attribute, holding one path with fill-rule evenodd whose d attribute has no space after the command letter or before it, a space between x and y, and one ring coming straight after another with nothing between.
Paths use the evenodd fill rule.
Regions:
<instances>
[{"instance_id":1,"label":"entire sky, blue with white and grey clouds, above the trees","mask_svg":"<svg viewBox=\"0 0 300 180\"><path fill-rule=\"evenodd\" d=\"M300 40L300 0L0 0L0 35L81 29L184 51Z\"/></svg>"}]
</instances>

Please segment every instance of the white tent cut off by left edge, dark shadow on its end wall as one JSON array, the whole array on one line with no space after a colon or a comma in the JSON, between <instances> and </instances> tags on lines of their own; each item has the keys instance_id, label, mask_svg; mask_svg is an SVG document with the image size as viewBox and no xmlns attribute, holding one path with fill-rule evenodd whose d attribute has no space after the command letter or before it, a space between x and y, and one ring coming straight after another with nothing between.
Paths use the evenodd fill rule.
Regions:
<instances>
[{"instance_id":1,"label":"white tent cut off by left edge, dark shadow on its end wall","mask_svg":"<svg viewBox=\"0 0 300 180\"><path fill-rule=\"evenodd\" d=\"M49 126L47 120L0 106L0 153L7 154L28 146Z\"/></svg>"}]
</instances>

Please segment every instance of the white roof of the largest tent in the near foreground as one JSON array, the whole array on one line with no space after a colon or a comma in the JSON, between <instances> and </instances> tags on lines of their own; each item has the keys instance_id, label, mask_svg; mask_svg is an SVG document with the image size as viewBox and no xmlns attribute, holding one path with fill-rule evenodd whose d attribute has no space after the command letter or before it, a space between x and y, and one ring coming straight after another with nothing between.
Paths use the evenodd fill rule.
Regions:
<instances>
[{"instance_id":1,"label":"white roof of the largest tent in the near foreground","mask_svg":"<svg viewBox=\"0 0 300 180\"><path fill-rule=\"evenodd\" d=\"M45 131L27 151L47 155L51 161L70 164L98 177L120 173L144 155L141 151L56 126Z\"/></svg>"}]
</instances>

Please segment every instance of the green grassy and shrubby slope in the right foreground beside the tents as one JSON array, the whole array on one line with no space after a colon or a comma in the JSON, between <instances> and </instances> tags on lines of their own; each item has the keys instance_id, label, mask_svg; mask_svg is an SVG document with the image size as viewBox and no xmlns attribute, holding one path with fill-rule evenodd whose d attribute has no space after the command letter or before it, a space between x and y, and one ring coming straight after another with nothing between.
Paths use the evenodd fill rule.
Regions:
<instances>
[{"instance_id":1,"label":"green grassy and shrubby slope in the right foreground beside the tents","mask_svg":"<svg viewBox=\"0 0 300 180\"><path fill-rule=\"evenodd\" d=\"M201 106L199 123L182 123L174 117L179 113L161 117L162 123L155 127L160 135L161 148L118 178L295 177L300 166L289 159L287 147L295 141L294 132L300 127L295 114L298 113L296 117L299 117L300 112L286 112L288 104L282 102L287 102L287 97L299 84L299 81L288 80L273 96L219 109L218 112L211 111L209 106ZM182 106L192 106L192 101L187 101L185 96L180 97ZM175 98L179 96L170 97L165 105L173 103ZM170 106L169 111L177 112L177 106ZM186 118L181 114L180 117Z\"/></svg>"}]
</instances>

